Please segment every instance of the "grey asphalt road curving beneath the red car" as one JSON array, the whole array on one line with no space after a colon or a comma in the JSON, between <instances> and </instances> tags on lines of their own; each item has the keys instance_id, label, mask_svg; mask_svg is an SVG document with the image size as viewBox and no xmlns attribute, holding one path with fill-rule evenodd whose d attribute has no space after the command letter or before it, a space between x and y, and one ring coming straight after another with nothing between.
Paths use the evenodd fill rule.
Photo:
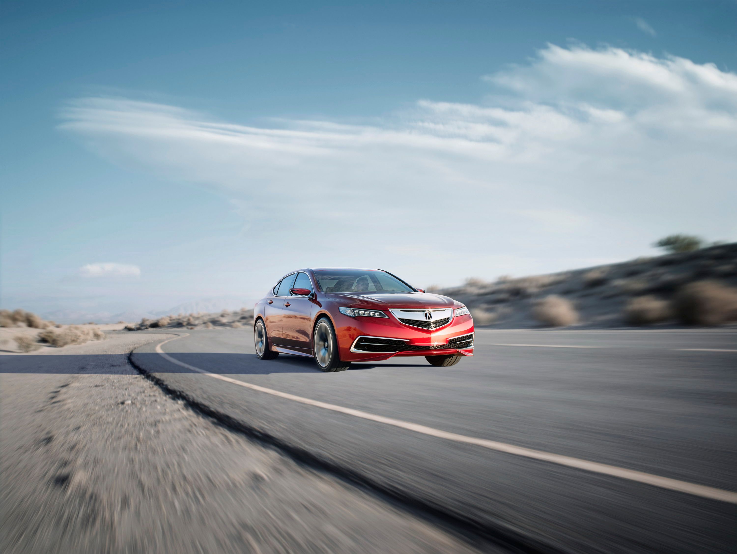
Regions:
<instances>
[{"instance_id":1,"label":"grey asphalt road curving beneath the red car","mask_svg":"<svg viewBox=\"0 0 737 554\"><path fill-rule=\"evenodd\" d=\"M131 357L231 424L461 533L538 552L737 549L733 502L442 436L737 491L737 330L478 330L475 356L454 367L403 358L343 373L292 356L259 361L250 330L191 331L161 348L235 381L438 430L432 436L238 386L172 363L155 343Z\"/></svg>"}]
</instances>

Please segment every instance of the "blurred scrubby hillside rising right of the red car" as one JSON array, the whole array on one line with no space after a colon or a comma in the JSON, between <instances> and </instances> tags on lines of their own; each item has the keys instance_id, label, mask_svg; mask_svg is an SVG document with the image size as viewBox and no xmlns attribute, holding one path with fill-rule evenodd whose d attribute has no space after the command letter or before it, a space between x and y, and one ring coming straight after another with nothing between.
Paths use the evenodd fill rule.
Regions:
<instances>
[{"instance_id":1,"label":"blurred scrubby hillside rising right of the red car","mask_svg":"<svg viewBox=\"0 0 737 554\"><path fill-rule=\"evenodd\" d=\"M433 292L455 298L473 308L472 314L479 327L551 326L542 324L534 316L534 310L543 299L552 295L563 299L559 305L570 302L570 308L578 319L571 326L620 328L683 325L684 316L679 314L689 309L688 302L709 302L709 306L695 309L717 310L723 314L716 320L692 318L691 323L737 322L735 287L737 243L730 243L609 266L531 277L503 277L493 283L471 279L462 286ZM694 289L708 289L708 299L690 299L688 294Z\"/></svg>"}]
</instances>

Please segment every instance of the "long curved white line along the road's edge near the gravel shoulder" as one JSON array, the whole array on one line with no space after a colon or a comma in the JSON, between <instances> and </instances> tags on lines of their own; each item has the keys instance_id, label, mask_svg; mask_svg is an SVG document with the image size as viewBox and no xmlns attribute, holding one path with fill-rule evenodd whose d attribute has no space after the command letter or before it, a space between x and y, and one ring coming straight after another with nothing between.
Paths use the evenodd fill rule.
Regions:
<instances>
[{"instance_id":1,"label":"long curved white line along the road's edge near the gravel shoulder","mask_svg":"<svg viewBox=\"0 0 737 554\"><path fill-rule=\"evenodd\" d=\"M186 335L183 335L186 336ZM733 491L724 491L721 488L707 487L705 485L696 485L696 483L690 483L686 481L679 481L678 479L669 479L668 477L660 477L658 475L643 473L643 471L634 471L632 469L618 468L615 465L607 465L598 462L589 462L587 460L579 460L579 458L573 458L569 456L561 456L559 454L551 454L551 452L545 452L540 450L525 449L522 446L514 446L507 443L498 443L495 440L486 440L475 437L467 437L464 434L450 433L447 431L441 431L440 429L433 429L433 427L427 427L424 425L418 425L417 423L409 423L408 421L402 421L393 418L385 418L382 415L375 415L368 412L361 412L357 409L344 408L343 406L336 406L335 404L327 404L326 402L312 400L311 398L303 398L301 396L291 395L288 392L281 392L279 390L268 389L266 387L259 387L252 383L245 381L238 381L224 375L217 373L209 373L205 370L200 370L199 367L185 364L184 361L172 358L169 354L161 350L161 345L167 342L179 339L181 337L175 337L175 339L168 339L164 342L156 344L156 352L164 356L165 359L177 364L181 367L186 367L188 370L208 375L209 377L220 379L220 381L226 381L239 387L246 387L248 389L254 389L259 392L265 392L268 395L278 396L279 398L286 398L287 400L299 402L301 404L307 404L308 406L316 406L318 408L329 409L332 412L340 412L341 414L353 415L356 418L362 418L370 421L376 421L377 423L385 423L401 429L407 429L416 433L422 433L430 435L430 437L438 437L447 440L454 440L457 443L467 443L476 446L483 446L483 448L496 450L500 452L506 452L507 454L514 454L515 456L523 456L526 458L532 458L534 460L543 460L545 462L556 463L559 465L567 465L571 468L583 469L584 471L593 471L593 473L610 475L612 477L619 477L621 479L629 479L630 481L637 481L645 483L646 485L652 485L654 487L667 488L671 491L679 491L686 494L693 494L694 496L702 496L703 498L720 500L722 502L730 502L731 504L737 504L737 493Z\"/></svg>"}]
</instances>

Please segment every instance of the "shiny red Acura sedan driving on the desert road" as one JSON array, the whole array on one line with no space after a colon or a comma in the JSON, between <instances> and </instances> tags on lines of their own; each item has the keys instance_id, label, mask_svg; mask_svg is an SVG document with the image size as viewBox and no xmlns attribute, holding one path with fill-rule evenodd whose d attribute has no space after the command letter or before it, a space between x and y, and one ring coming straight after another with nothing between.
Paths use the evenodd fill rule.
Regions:
<instances>
[{"instance_id":1,"label":"shiny red Acura sedan driving on the desert road","mask_svg":"<svg viewBox=\"0 0 737 554\"><path fill-rule=\"evenodd\" d=\"M310 356L323 371L393 356L455 365L473 356L473 333L463 304L380 269L293 271L254 308L259 359Z\"/></svg>"}]
</instances>

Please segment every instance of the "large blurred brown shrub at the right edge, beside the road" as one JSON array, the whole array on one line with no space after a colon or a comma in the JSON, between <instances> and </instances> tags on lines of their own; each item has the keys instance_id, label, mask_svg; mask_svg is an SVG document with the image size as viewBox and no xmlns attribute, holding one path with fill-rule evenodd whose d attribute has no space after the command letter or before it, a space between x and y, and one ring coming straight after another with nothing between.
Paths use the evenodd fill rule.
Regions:
<instances>
[{"instance_id":1,"label":"large blurred brown shrub at the right edge, beside the road","mask_svg":"<svg viewBox=\"0 0 737 554\"><path fill-rule=\"evenodd\" d=\"M696 281L678 291L673 306L678 319L686 325L737 321L737 289L716 281Z\"/></svg>"}]
</instances>

